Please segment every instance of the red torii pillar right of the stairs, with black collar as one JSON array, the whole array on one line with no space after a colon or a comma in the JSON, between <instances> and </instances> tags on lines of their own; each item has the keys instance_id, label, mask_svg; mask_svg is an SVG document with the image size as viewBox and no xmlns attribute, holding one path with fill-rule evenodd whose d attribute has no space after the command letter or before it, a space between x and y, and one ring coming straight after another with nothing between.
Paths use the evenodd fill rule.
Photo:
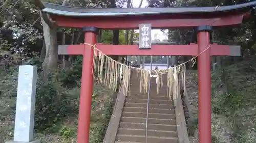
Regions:
<instances>
[{"instance_id":1,"label":"red torii pillar right of the stairs, with black collar","mask_svg":"<svg viewBox=\"0 0 256 143\"><path fill-rule=\"evenodd\" d=\"M197 27L198 39L198 128L199 143L211 142L210 32L212 26ZM208 48L208 49L207 49Z\"/></svg>"}]
</instances>

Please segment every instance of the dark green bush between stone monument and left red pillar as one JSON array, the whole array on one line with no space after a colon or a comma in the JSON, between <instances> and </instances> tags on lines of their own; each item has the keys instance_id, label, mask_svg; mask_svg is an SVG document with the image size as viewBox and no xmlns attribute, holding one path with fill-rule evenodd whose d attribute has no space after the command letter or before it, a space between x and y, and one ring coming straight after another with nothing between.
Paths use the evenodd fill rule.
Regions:
<instances>
[{"instance_id":1,"label":"dark green bush between stone monument and left red pillar","mask_svg":"<svg viewBox=\"0 0 256 143\"><path fill-rule=\"evenodd\" d=\"M45 130L78 109L71 105L67 91L60 87L54 76L49 74L48 83L42 82L40 76L38 78L35 128Z\"/></svg>"}]
</instances>

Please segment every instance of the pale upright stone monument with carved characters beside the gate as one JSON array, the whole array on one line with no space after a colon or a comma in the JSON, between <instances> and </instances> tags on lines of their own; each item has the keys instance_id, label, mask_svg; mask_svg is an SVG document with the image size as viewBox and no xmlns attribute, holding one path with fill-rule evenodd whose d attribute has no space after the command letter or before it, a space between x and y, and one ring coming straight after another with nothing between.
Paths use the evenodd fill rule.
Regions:
<instances>
[{"instance_id":1,"label":"pale upright stone monument with carved characters beside the gate","mask_svg":"<svg viewBox=\"0 0 256 143\"><path fill-rule=\"evenodd\" d=\"M34 139L36 66L19 66L14 140L12 142L40 142Z\"/></svg>"}]
</instances>

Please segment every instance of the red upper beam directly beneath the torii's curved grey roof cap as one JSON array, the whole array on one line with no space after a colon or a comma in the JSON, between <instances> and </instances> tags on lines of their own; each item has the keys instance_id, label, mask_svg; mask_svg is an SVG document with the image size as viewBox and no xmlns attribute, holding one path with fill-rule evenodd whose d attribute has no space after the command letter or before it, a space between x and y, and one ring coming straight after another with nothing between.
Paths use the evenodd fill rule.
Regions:
<instances>
[{"instance_id":1,"label":"red upper beam directly beneath the torii's curved grey roof cap","mask_svg":"<svg viewBox=\"0 0 256 143\"><path fill-rule=\"evenodd\" d=\"M191 27L200 25L225 26L240 24L244 14L234 14L218 17L108 17L108 18L77 18L69 16L51 15L59 26L65 27L84 27L95 26L104 29L137 29L140 23L151 23L152 28L169 28L169 27ZM160 17L160 18L158 18Z\"/></svg>"}]
</instances>

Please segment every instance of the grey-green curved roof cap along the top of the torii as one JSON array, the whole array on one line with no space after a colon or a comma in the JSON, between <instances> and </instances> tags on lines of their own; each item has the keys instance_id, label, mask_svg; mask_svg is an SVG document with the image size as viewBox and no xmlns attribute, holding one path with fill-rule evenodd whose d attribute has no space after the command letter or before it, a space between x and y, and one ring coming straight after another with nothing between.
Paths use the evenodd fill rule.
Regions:
<instances>
[{"instance_id":1,"label":"grey-green curved roof cap along the top of the torii","mask_svg":"<svg viewBox=\"0 0 256 143\"><path fill-rule=\"evenodd\" d=\"M108 9L88 9L67 7L44 3L45 9L42 11L49 14L74 17L99 17L99 16L125 16L125 15L156 15L156 14L199 14L199 13L222 13L232 11L246 11L256 6L256 1L240 5L223 7L172 7L172 8L108 8Z\"/></svg>"}]
</instances>

